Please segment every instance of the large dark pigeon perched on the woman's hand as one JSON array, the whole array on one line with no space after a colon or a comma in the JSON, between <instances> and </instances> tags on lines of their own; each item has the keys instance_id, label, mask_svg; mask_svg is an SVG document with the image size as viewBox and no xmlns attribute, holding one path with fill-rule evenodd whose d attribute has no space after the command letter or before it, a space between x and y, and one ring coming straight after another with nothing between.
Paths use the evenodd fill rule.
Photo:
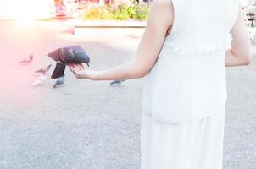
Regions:
<instances>
[{"instance_id":1,"label":"large dark pigeon perched on the woman's hand","mask_svg":"<svg viewBox=\"0 0 256 169\"><path fill-rule=\"evenodd\" d=\"M48 54L56 61L52 79L58 79L64 75L65 67L69 63L86 63L89 66L90 57L81 46L66 46L58 48Z\"/></svg>"}]
</instances>

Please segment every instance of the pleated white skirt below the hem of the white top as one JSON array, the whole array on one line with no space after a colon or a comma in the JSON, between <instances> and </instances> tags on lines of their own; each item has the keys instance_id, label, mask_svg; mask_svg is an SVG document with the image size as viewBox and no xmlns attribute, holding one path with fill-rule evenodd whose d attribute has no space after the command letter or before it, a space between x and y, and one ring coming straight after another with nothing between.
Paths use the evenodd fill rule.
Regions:
<instances>
[{"instance_id":1,"label":"pleated white skirt below the hem of the white top","mask_svg":"<svg viewBox=\"0 0 256 169\"><path fill-rule=\"evenodd\" d=\"M142 114L141 169L222 169L225 113L169 124Z\"/></svg>"}]
</instances>

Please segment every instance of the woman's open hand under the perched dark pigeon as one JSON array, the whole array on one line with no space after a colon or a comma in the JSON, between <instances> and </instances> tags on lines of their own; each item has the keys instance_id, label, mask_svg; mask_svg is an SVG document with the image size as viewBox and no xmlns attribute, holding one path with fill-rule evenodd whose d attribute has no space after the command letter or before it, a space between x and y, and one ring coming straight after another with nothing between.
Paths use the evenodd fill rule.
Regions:
<instances>
[{"instance_id":1,"label":"woman's open hand under the perched dark pigeon","mask_svg":"<svg viewBox=\"0 0 256 169\"><path fill-rule=\"evenodd\" d=\"M82 63L73 64L70 63L69 65L70 71L75 75L77 79L95 79L96 71L90 70L88 66L84 66Z\"/></svg>"}]
</instances>

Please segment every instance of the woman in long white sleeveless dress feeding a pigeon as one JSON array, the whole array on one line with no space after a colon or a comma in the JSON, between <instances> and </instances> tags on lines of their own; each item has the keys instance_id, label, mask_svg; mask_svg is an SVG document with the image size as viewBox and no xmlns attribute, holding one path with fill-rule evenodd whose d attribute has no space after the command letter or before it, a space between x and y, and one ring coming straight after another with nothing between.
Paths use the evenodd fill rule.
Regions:
<instances>
[{"instance_id":1,"label":"woman in long white sleeveless dress feeding a pigeon","mask_svg":"<svg viewBox=\"0 0 256 169\"><path fill-rule=\"evenodd\" d=\"M225 67L248 65L252 49L238 0L154 0L131 62L78 79L145 77L142 169L221 169Z\"/></svg>"}]
</instances>

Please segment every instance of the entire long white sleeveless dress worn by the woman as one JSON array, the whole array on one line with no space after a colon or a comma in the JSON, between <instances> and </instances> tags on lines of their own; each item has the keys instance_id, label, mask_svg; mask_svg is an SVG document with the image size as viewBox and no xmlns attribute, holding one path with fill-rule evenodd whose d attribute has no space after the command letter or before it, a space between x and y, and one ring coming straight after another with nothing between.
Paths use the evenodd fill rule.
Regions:
<instances>
[{"instance_id":1,"label":"entire long white sleeveless dress worn by the woman","mask_svg":"<svg viewBox=\"0 0 256 169\"><path fill-rule=\"evenodd\" d=\"M173 28L144 80L142 169L221 169L225 49L238 0L172 3Z\"/></svg>"}]
</instances>

